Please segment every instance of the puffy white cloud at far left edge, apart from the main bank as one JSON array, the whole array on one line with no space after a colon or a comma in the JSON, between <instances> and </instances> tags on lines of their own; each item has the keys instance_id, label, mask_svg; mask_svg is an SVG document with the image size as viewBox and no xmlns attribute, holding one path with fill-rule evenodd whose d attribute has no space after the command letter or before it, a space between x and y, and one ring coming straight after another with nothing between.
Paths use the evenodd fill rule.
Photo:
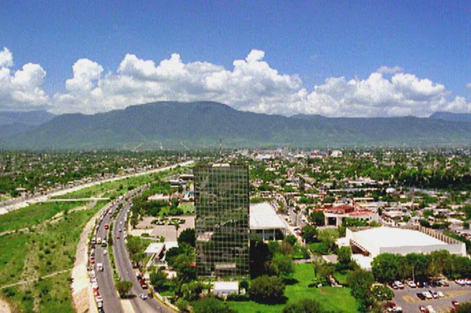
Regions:
<instances>
[{"instance_id":1,"label":"puffy white cloud at far left edge, apart from the main bank","mask_svg":"<svg viewBox=\"0 0 471 313\"><path fill-rule=\"evenodd\" d=\"M47 108L49 98L41 89L46 71L35 63L26 63L16 71L12 71L12 66L12 53L3 48L0 52L0 110Z\"/></svg>"}]
</instances>

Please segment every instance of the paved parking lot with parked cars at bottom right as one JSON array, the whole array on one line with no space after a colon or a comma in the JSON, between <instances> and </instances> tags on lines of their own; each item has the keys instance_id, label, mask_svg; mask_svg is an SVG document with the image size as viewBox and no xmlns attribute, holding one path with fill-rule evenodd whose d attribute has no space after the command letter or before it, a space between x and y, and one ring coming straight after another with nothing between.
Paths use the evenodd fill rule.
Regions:
<instances>
[{"instance_id":1,"label":"paved parking lot with parked cars at bottom right","mask_svg":"<svg viewBox=\"0 0 471 313\"><path fill-rule=\"evenodd\" d=\"M445 296L440 299L421 300L417 297L417 293L427 290L435 292L443 292ZM452 309L452 300L459 303L471 301L471 286L460 286L450 281L450 287L419 287L411 288L405 285L402 290L394 290L394 301L396 305L403 308L403 312L420 312L421 305L432 305L436 312L450 312Z\"/></svg>"}]
</instances>

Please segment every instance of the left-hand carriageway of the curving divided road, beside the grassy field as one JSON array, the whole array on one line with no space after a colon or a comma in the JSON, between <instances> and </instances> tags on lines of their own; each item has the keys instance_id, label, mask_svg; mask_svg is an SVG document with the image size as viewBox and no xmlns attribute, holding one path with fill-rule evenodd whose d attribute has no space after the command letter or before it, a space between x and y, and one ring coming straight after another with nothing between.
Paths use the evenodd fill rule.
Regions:
<instances>
[{"instance_id":1,"label":"left-hand carriageway of the curving divided road, beside the grassy field","mask_svg":"<svg viewBox=\"0 0 471 313\"><path fill-rule=\"evenodd\" d=\"M108 212L111 210L115 210L117 207L117 203L113 205ZM108 212L105 212L104 219L99 225L97 236L100 238L107 238L108 237L108 230L105 230L104 225L111 223L112 216ZM103 263L103 272L96 271L97 273L97 281L99 286L99 293L103 297L103 308L105 312L113 312L113 313L124 313L123 307L121 305L121 301L119 300L119 296L117 295L115 282L113 281L113 270L111 269L110 260L108 259L108 254L103 254L103 251L106 248L102 248L99 245L95 245L95 264L96 263Z\"/></svg>"}]
</instances>

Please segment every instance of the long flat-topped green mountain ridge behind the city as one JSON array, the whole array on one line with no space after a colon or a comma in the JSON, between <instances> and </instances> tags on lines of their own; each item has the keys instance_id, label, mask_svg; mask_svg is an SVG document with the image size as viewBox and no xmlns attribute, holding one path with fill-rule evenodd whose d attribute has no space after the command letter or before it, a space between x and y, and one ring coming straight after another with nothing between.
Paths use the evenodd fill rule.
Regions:
<instances>
[{"instance_id":1,"label":"long flat-topped green mountain ridge behind the city","mask_svg":"<svg viewBox=\"0 0 471 313\"><path fill-rule=\"evenodd\" d=\"M3 148L186 149L470 145L471 123L417 117L257 114L215 102L155 102L94 115L63 114L0 139Z\"/></svg>"}]
</instances>

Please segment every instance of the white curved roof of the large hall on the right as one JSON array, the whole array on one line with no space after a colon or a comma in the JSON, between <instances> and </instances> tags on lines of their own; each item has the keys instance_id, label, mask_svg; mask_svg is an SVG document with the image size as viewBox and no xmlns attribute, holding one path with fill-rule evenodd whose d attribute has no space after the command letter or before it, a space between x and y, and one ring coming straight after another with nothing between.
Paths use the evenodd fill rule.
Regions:
<instances>
[{"instance_id":1,"label":"white curved roof of the large hall on the right","mask_svg":"<svg viewBox=\"0 0 471 313\"><path fill-rule=\"evenodd\" d=\"M403 228L370 228L354 232L354 237L363 242L373 243L381 247L405 247L418 245L446 245L445 242L418 230Z\"/></svg>"}]
</instances>

